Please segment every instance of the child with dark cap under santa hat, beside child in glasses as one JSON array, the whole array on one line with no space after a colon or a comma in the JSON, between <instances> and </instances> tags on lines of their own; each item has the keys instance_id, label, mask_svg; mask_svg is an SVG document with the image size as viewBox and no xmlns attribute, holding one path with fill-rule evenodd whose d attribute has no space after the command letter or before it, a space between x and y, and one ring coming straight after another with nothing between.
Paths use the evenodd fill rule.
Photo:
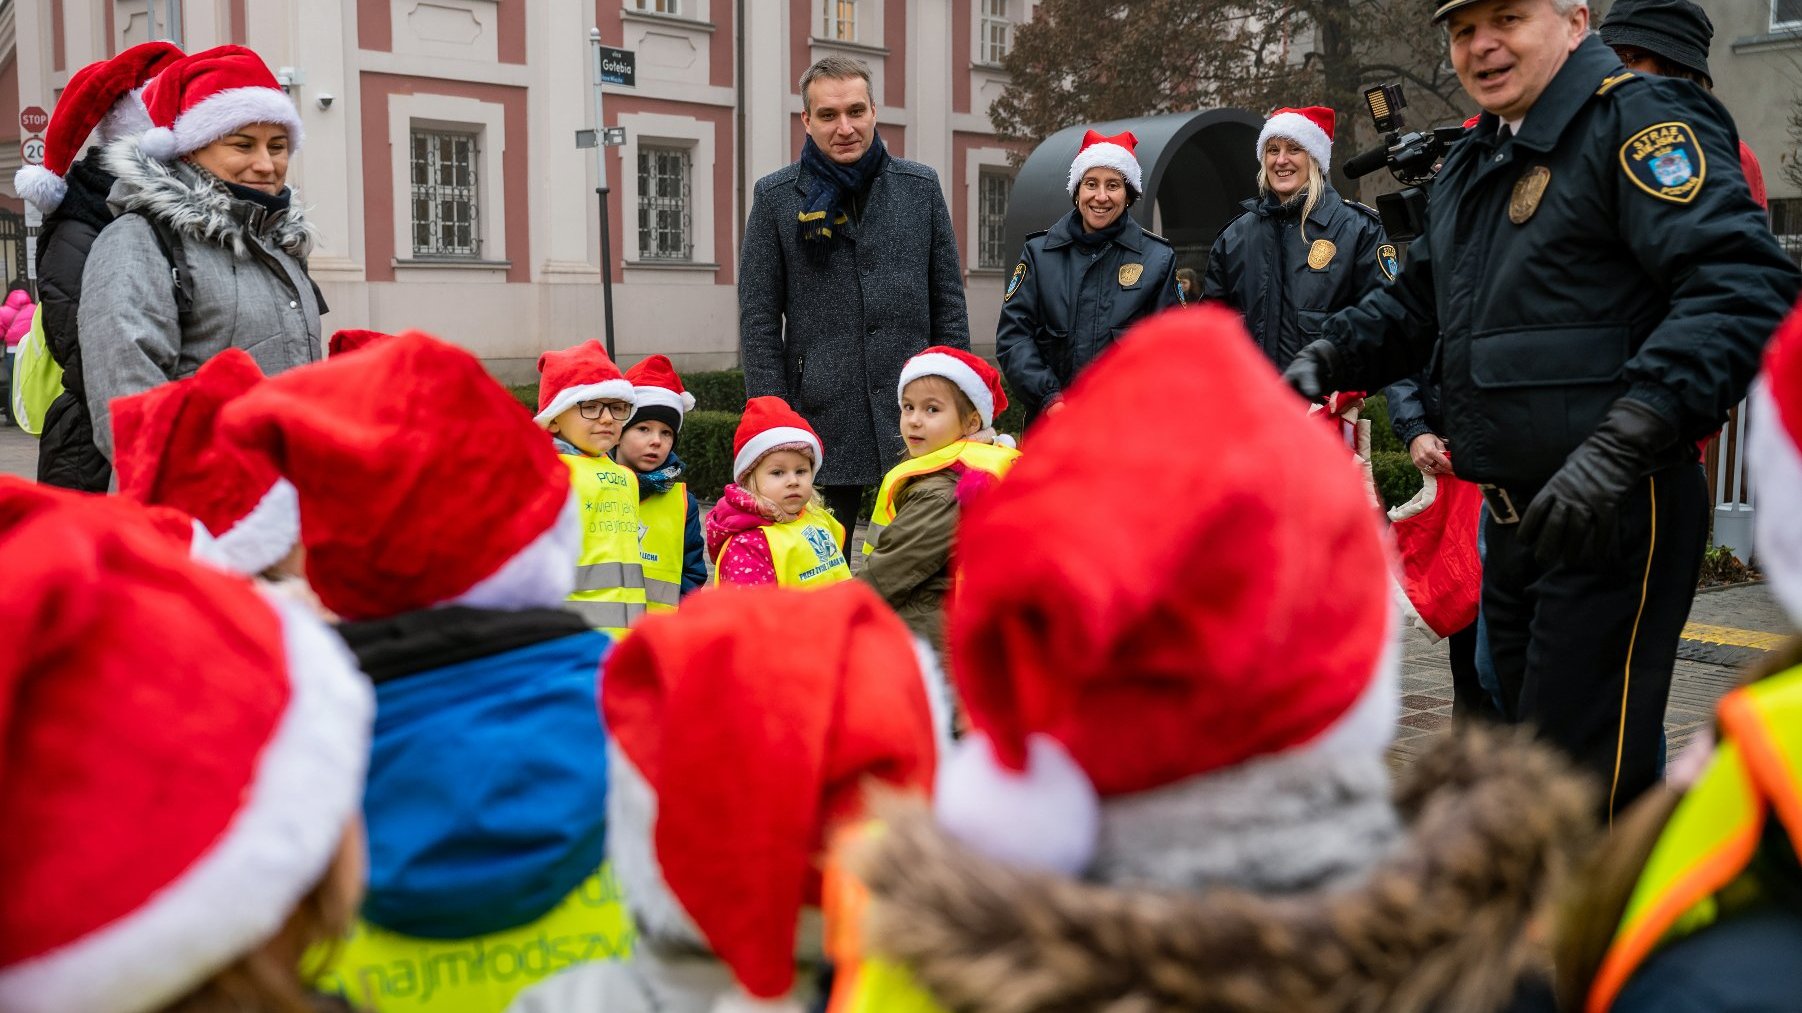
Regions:
<instances>
[{"instance_id":1,"label":"child with dark cap under santa hat, beside child in glasses","mask_svg":"<svg viewBox=\"0 0 1802 1013\"><path fill-rule=\"evenodd\" d=\"M652 355L625 371L638 407L625 422L613 458L638 476L638 555L645 566L645 607L670 611L681 597L706 584L706 543L701 505L683 481L676 456L681 420L694 395L667 355Z\"/></svg>"}]
</instances>

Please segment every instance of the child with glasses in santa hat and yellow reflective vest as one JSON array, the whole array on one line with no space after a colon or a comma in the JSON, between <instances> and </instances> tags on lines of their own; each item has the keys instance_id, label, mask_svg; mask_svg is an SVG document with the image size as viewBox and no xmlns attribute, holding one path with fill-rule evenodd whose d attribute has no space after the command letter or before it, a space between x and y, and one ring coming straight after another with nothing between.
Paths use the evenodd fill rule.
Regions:
<instances>
[{"instance_id":1,"label":"child with glasses in santa hat and yellow reflective vest","mask_svg":"<svg viewBox=\"0 0 1802 1013\"><path fill-rule=\"evenodd\" d=\"M633 382L598 341L539 355L539 413L582 505L582 555L569 607L614 638L645 615L638 476L607 458L633 416Z\"/></svg>"}]
</instances>

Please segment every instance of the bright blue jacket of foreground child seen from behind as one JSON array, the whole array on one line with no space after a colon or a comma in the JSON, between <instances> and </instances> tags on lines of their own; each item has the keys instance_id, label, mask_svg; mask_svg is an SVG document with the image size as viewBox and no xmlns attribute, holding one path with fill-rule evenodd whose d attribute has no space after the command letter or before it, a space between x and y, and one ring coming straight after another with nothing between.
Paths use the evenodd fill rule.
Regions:
<instances>
[{"instance_id":1,"label":"bright blue jacket of foreground child seen from behind","mask_svg":"<svg viewBox=\"0 0 1802 1013\"><path fill-rule=\"evenodd\" d=\"M375 683L362 916L467 939L544 916L605 858L611 647L562 609L342 624Z\"/></svg>"}]
</instances>

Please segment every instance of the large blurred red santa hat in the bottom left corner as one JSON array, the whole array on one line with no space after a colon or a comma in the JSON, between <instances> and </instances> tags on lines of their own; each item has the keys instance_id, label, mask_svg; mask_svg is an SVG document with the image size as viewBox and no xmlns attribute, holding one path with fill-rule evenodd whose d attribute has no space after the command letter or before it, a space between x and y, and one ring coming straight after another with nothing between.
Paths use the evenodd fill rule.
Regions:
<instances>
[{"instance_id":1,"label":"large blurred red santa hat in the bottom left corner","mask_svg":"<svg viewBox=\"0 0 1802 1013\"><path fill-rule=\"evenodd\" d=\"M114 506L0 487L0 1009L162 1009L272 939L362 802L373 712L305 607Z\"/></svg>"}]
</instances>

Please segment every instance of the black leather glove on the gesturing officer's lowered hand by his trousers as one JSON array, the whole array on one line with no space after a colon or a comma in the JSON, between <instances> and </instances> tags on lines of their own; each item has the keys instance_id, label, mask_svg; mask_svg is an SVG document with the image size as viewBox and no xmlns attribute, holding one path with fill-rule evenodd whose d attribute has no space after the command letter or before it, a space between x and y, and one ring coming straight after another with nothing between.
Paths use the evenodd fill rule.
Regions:
<instances>
[{"instance_id":1,"label":"black leather glove on the gesturing officer's lowered hand by his trousers","mask_svg":"<svg viewBox=\"0 0 1802 1013\"><path fill-rule=\"evenodd\" d=\"M1620 501L1676 440L1676 425L1649 406L1616 400L1521 517L1521 541L1534 546L1539 566L1611 557Z\"/></svg>"}]
</instances>

